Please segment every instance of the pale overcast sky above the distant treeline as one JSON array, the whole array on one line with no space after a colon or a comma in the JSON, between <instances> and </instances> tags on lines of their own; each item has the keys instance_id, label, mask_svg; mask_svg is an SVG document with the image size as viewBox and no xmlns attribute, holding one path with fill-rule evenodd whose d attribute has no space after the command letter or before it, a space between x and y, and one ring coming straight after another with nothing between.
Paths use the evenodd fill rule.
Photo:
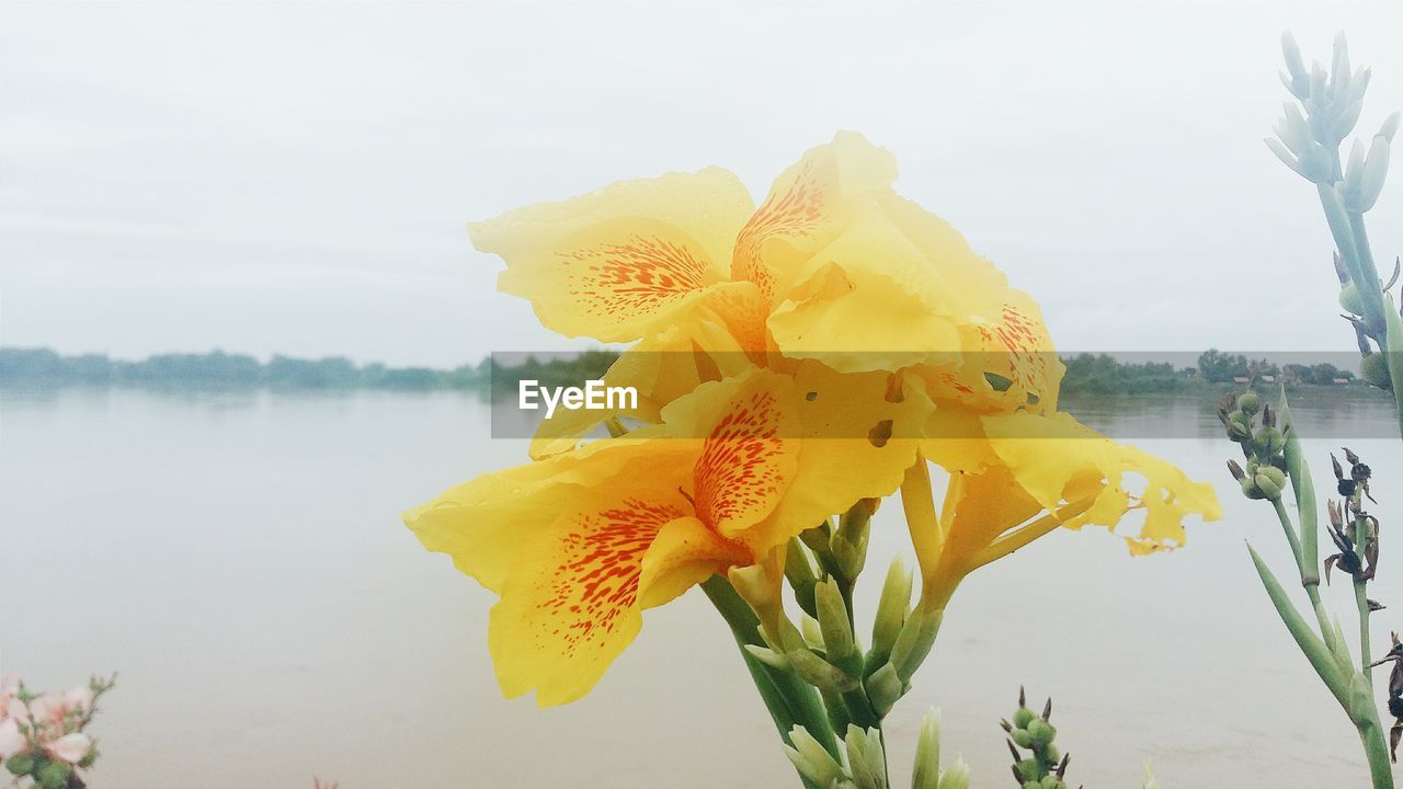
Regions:
<instances>
[{"instance_id":1,"label":"pale overcast sky above the distant treeline","mask_svg":"<svg viewBox=\"0 0 1403 789\"><path fill-rule=\"evenodd\" d=\"M1403 4L0 4L0 343L452 365L572 347L464 223L838 129L1062 350L1348 350L1278 37L1375 67ZM1371 218L1403 250L1403 175Z\"/></svg>"}]
</instances>

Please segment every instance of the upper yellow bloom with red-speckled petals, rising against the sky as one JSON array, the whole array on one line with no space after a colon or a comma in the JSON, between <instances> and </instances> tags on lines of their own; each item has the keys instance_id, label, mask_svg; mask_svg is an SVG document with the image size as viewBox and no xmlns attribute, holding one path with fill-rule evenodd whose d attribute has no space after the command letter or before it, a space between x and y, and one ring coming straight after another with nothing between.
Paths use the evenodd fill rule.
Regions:
<instances>
[{"instance_id":1,"label":"upper yellow bloom with red-speckled petals, rising against the sky","mask_svg":"<svg viewBox=\"0 0 1403 789\"><path fill-rule=\"evenodd\" d=\"M607 376L640 393L622 416L655 421L702 382L796 359L839 372L927 365L1000 394L972 368L1000 351L1010 309L1030 300L948 223L898 197L895 177L890 153L843 132L787 168L759 208L713 167L518 209L471 236L506 261L501 289L529 299L544 326L637 343ZM547 420L532 455L570 449L607 416Z\"/></svg>"}]
</instances>

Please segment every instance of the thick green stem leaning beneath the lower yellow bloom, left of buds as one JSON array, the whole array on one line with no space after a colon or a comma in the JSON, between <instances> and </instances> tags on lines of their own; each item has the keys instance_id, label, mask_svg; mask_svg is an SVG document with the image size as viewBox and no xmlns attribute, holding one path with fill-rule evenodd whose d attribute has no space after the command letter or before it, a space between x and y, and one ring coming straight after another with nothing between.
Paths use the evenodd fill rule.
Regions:
<instances>
[{"instance_id":1,"label":"thick green stem leaning beneath the lower yellow bloom, left of buds","mask_svg":"<svg viewBox=\"0 0 1403 789\"><path fill-rule=\"evenodd\" d=\"M721 576L711 576L703 581L702 591L721 612L725 623L731 626L745 665L751 670L751 678L755 679L755 687L760 692L760 698L765 699L765 706L770 710L770 717L774 719L774 726L784 743L790 743L790 730L796 724L803 726L824 745L824 750L835 760L840 760L828 712L814 688L788 671L765 665L745 650L745 644L765 646L758 632L760 621L751 611L751 605Z\"/></svg>"}]
</instances>

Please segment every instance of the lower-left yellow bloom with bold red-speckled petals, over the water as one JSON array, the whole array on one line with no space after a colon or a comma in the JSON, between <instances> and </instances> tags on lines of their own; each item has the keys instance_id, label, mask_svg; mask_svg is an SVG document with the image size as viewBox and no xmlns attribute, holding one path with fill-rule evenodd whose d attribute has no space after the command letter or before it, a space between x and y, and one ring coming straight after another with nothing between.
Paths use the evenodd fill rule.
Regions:
<instances>
[{"instance_id":1,"label":"lower-left yellow bloom with bold red-speckled petals, over the water","mask_svg":"<svg viewBox=\"0 0 1403 789\"><path fill-rule=\"evenodd\" d=\"M679 397L661 425L481 476L405 524L501 595L488 643L502 691L570 702L634 639L643 609L891 494L916 441L888 435L915 435L932 404L919 385L888 402L888 383L817 364L793 378L752 368ZM853 393L882 404L854 409Z\"/></svg>"}]
</instances>

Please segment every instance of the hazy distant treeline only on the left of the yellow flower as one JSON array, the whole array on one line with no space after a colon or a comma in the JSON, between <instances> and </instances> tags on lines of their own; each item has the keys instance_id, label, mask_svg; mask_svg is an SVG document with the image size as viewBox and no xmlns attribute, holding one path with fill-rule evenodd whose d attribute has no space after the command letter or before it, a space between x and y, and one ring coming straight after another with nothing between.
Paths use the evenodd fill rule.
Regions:
<instances>
[{"instance_id":1,"label":"hazy distant treeline only on the left of the yellow flower","mask_svg":"<svg viewBox=\"0 0 1403 789\"><path fill-rule=\"evenodd\" d=\"M59 355L48 348L0 348L0 386L147 386L167 389L459 389L515 392L521 379L549 386L578 385L602 378L617 358L613 351L586 351L570 359L528 357L509 366L487 358L453 369L356 365L344 357L261 362L243 354L160 354L132 362L104 354Z\"/></svg>"}]
</instances>

